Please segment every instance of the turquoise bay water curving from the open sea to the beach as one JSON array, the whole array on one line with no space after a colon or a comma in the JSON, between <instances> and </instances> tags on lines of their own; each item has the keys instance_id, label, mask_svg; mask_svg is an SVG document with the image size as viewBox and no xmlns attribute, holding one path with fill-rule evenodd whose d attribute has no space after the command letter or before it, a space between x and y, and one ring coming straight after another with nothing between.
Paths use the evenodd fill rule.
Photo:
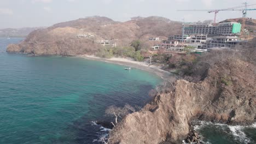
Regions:
<instances>
[{"instance_id":1,"label":"turquoise bay water curving from the open sea to the beach","mask_svg":"<svg viewBox=\"0 0 256 144\"><path fill-rule=\"evenodd\" d=\"M107 106L142 106L161 81L121 65L4 52L21 40L0 38L0 143L92 143L104 132L91 122L106 119Z\"/></svg>"}]
</instances>

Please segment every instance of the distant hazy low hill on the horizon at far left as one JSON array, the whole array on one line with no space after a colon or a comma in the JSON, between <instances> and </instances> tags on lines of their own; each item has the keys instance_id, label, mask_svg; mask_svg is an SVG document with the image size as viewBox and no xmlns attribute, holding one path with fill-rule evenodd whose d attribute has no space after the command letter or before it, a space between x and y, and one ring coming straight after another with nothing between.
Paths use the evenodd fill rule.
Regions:
<instances>
[{"instance_id":1,"label":"distant hazy low hill on the horizon at far left","mask_svg":"<svg viewBox=\"0 0 256 144\"><path fill-rule=\"evenodd\" d=\"M25 28L4 28L0 29L0 37L27 37L32 31L44 27L25 27Z\"/></svg>"}]
</instances>

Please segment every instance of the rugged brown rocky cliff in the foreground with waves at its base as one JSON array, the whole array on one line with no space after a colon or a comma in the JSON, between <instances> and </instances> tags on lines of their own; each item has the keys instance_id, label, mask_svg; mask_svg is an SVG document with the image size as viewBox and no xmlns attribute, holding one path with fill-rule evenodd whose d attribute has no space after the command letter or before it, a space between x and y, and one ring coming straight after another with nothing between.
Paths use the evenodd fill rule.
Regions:
<instances>
[{"instance_id":1,"label":"rugged brown rocky cliff in the foreground with waves at its base","mask_svg":"<svg viewBox=\"0 0 256 144\"><path fill-rule=\"evenodd\" d=\"M111 143L181 143L193 119L228 124L256 121L256 67L218 63L199 83L178 80L175 90L155 97L110 133ZM248 77L249 76L249 77Z\"/></svg>"}]
</instances>

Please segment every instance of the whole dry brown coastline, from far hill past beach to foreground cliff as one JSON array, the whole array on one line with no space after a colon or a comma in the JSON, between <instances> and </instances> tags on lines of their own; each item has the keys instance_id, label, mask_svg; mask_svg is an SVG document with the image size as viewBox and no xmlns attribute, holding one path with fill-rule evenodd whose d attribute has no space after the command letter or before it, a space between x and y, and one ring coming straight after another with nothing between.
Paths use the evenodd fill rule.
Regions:
<instances>
[{"instance_id":1,"label":"whole dry brown coastline, from far hill past beach to foreground cliff","mask_svg":"<svg viewBox=\"0 0 256 144\"><path fill-rule=\"evenodd\" d=\"M78 56L146 70L164 79L151 103L115 124L108 143L181 143L194 119L255 123L256 39L234 51L203 53L181 44L182 49L174 46L177 51L170 52L172 40L166 39L181 29L182 22L157 16L127 22L88 17L37 29L20 44L9 45L7 52ZM177 77L162 69L176 70Z\"/></svg>"}]
</instances>

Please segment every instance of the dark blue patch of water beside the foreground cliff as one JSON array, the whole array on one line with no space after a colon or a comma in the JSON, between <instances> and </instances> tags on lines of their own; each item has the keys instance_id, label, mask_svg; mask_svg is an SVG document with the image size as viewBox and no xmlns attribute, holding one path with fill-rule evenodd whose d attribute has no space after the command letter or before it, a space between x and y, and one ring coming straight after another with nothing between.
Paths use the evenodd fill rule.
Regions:
<instances>
[{"instance_id":1,"label":"dark blue patch of water beside the foreground cliff","mask_svg":"<svg viewBox=\"0 0 256 144\"><path fill-rule=\"evenodd\" d=\"M68 129L74 131L75 142L92 143L94 141L94 143L99 143L95 140L101 135L107 134L108 129L95 124L94 121L107 123L113 121L113 118L104 115L106 108L110 105L124 106L125 104L144 106L149 101L148 92L152 88L151 85L141 85L139 92L126 92L126 97L120 97L119 92L112 92L108 95L95 94L94 98L89 101L89 111L86 116L77 119L72 125L68 125Z\"/></svg>"}]
</instances>

